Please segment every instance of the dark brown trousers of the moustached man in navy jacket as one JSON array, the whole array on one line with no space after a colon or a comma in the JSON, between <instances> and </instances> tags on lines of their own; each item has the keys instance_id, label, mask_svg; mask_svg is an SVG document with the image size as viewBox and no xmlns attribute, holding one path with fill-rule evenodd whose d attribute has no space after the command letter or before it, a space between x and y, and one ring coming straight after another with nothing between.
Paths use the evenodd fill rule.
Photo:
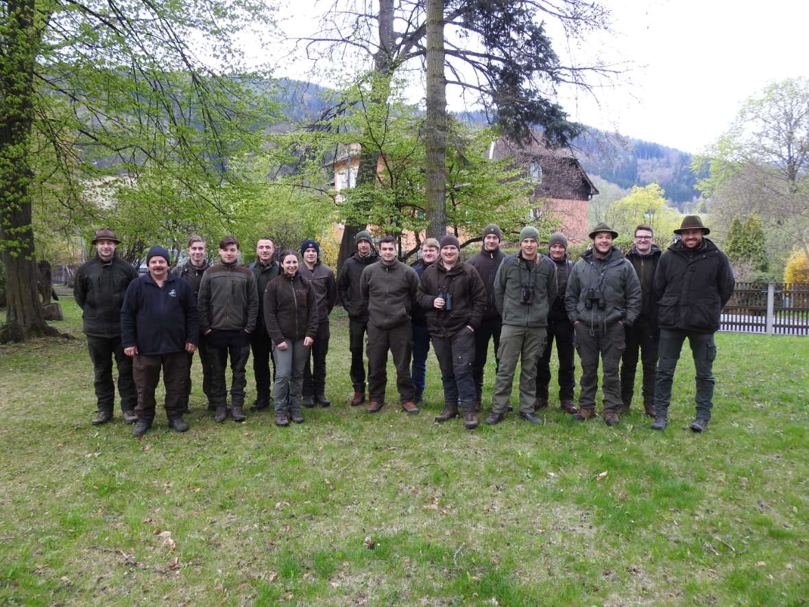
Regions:
<instances>
[{"instance_id":1,"label":"dark brown trousers of the moustached man in navy jacket","mask_svg":"<svg viewBox=\"0 0 809 607\"><path fill-rule=\"evenodd\" d=\"M135 356L132 369L138 387L138 406L135 407L138 419L148 423L155 419L155 388L160 380L160 367L163 367L163 385L166 387L166 416L171 419L183 414L188 398L186 354L181 351Z\"/></svg>"}]
</instances>

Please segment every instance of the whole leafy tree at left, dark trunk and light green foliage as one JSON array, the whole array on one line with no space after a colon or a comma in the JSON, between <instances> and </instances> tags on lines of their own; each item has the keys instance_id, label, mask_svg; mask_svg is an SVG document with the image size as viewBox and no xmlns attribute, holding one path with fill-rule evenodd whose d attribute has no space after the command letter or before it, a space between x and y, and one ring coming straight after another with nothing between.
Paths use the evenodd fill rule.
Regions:
<instances>
[{"instance_id":1,"label":"whole leafy tree at left, dark trunk and light green foliage","mask_svg":"<svg viewBox=\"0 0 809 607\"><path fill-rule=\"evenodd\" d=\"M231 40L272 25L262 3L246 0L0 4L2 337L47 331L36 304L35 225L87 235L91 223L131 214L144 225L166 218L152 231L163 238L201 207L227 216L222 193L232 189L222 185L238 183L227 159L260 151L273 116L252 86L263 74L243 69ZM121 203L131 204L119 213ZM58 219L47 217L54 209Z\"/></svg>"}]
</instances>

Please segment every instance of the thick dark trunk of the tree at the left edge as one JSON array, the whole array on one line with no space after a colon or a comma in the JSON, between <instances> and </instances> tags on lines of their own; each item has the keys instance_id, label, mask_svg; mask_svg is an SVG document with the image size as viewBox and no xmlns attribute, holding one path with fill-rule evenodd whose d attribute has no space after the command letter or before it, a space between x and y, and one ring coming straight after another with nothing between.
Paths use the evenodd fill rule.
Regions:
<instances>
[{"instance_id":1,"label":"thick dark trunk of the tree at the left edge","mask_svg":"<svg viewBox=\"0 0 809 607\"><path fill-rule=\"evenodd\" d=\"M0 342L20 342L57 334L45 323L40 305L31 225L29 154L37 42L34 0L7 0L0 27L6 49L0 66L0 241L7 303Z\"/></svg>"}]
</instances>

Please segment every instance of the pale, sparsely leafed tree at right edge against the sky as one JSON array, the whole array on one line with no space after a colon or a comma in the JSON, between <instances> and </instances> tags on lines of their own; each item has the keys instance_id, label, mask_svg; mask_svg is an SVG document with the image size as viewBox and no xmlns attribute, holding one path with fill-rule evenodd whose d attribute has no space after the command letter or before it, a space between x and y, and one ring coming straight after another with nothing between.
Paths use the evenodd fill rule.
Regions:
<instances>
[{"instance_id":1,"label":"pale, sparsely leafed tree at right edge against the sky","mask_svg":"<svg viewBox=\"0 0 809 607\"><path fill-rule=\"evenodd\" d=\"M794 246L809 259L809 79L786 79L748 99L693 169L718 223L756 215L777 257Z\"/></svg>"}]
</instances>

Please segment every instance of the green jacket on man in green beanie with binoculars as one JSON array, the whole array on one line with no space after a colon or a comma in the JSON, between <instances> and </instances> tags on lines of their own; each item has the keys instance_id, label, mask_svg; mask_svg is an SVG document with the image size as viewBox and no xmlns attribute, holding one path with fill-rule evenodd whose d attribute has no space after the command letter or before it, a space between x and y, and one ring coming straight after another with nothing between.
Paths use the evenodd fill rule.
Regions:
<instances>
[{"instance_id":1,"label":"green jacket on man in green beanie with binoculars","mask_svg":"<svg viewBox=\"0 0 809 607\"><path fill-rule=\"evenodd\" d=\"M503 325L548 326L549 302L556 297L555 274L553 261L539 253L530 272L522 253L506 257L494 275L494 304Z\"/></svg>"}]
</instances>

